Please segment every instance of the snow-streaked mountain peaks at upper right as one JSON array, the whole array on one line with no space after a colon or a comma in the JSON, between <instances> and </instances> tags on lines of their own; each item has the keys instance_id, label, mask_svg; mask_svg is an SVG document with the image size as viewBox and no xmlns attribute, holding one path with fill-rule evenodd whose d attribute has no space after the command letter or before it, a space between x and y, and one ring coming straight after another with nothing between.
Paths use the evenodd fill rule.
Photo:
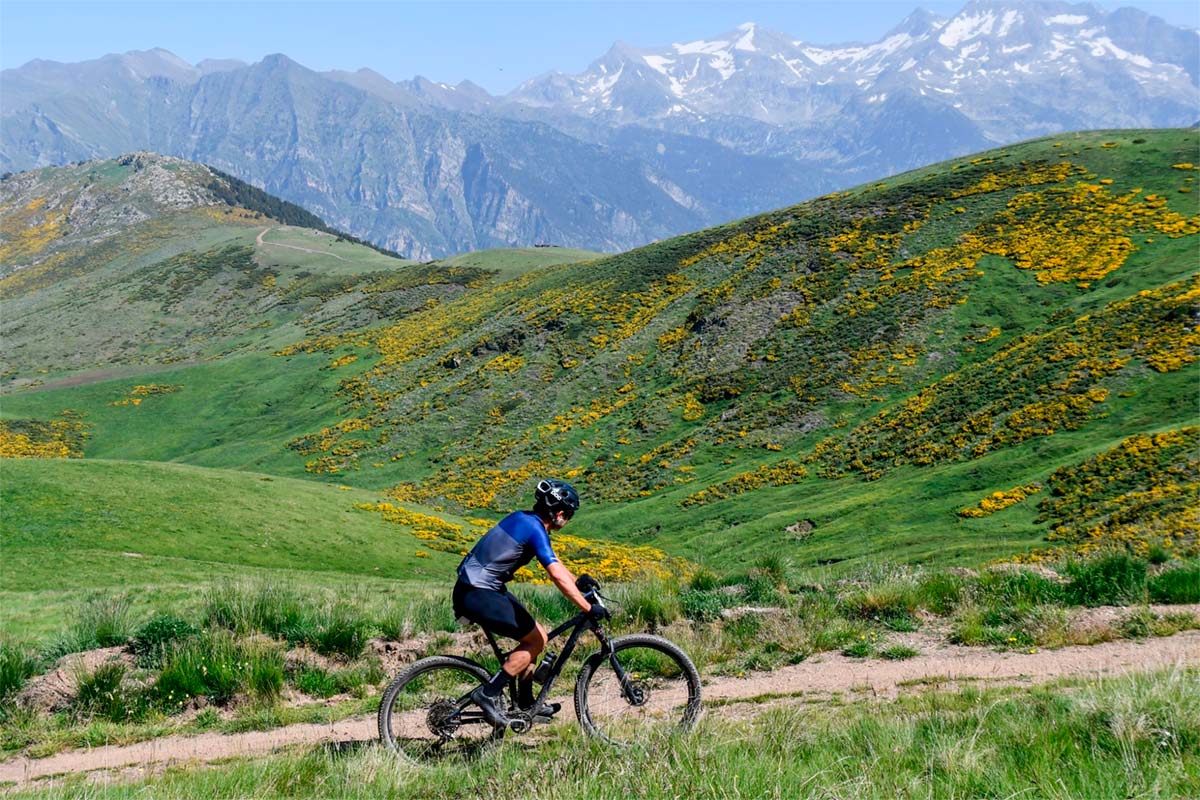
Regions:
<instances>
[{"instance_id":1,"label":"snow-streaked mountain peaks at upper right","mask_svg":"<svg viewBox=\"0 0 1200 800\"><path fill-rule=\"evenodd\" d=\"M1133 8L974 0L948 19L917 11L868 44L812 44L754 23L710 41L618 43L586 72L535 78L506 100L695 132L713 116L808 127L907 94L1007 142L1190 125L1198 68L1196 31Z\"/></svg>"}]
</instances>

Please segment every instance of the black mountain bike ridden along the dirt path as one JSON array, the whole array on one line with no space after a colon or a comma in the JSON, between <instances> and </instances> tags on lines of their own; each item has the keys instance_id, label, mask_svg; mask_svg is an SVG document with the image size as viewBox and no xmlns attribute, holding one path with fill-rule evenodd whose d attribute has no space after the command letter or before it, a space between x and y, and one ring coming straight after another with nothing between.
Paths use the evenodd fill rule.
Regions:
<instances>
[{"instance_id":1,"label":"black mountain bike ridden along the dirt path","mask_svg":"<svg viewBox=\"0 0 1200 800\"><path fill-rule=\"evenodd\" d=\"M584 591L589 602L608 602L600 587ZM509 726L493 727L472 703L470 692L491 678L482 664L456 655L428 656L414 662L389 684L379 702L379 739L413 759L470 754L506 732L523 734L553 717L547 698L575 651L590 631L600 644L575 680L575 715L583 730L613 745L649 745L689 729L700 715L700 673L672 642L649 633L608 637L600 624L576 614L550 632L550 642L569 633L563 651L547 645L535 673L541 682L533 706L517 705L517 681L502 694ZM504 654L484 631L499 663Z\"/></svg>"}]
</instances>

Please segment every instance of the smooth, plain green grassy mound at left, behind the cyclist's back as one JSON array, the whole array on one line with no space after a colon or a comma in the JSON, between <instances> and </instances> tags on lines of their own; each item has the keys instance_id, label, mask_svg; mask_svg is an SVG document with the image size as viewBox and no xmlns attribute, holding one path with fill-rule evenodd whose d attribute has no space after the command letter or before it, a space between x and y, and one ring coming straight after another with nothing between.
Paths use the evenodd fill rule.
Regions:
<instances>
[{"instance_id":1,"label":"smooth, plain green grassy mound at left, behind the cyclist's back","mask_svg":"<svg viewBox=\"0 0 1200 800\"><path fill-rule=\"evenodd\" d=\"M4 632L62 626L95 590L140 608L241 578L386 593L457 559L356 507L374 493L270 475L103 459L4 463ZM373 588L371 588L373 587ZM178 604L178 603L175 603Z\"/></svg>"}]
</instances>

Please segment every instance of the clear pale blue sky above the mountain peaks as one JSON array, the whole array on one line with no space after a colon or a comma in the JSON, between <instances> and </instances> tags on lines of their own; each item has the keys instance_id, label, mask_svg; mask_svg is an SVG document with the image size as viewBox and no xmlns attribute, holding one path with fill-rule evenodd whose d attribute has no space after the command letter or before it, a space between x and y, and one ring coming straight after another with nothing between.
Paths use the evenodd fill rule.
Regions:
<instances>
[{"instance_id":1,"label":"clear pale blue sky above the mountain peaks","mask_svg":"<svg viewBox=\"0 0 1200 800\"><path fill-rule=\"evenodd\" d=\"M469 78L504 92L548 71L578 72L617 40L635 46L712 37L757 22L814 44L875 41L914 8L960 2L22 2L0 0L0 67L83 61L163 47L194 64L284 53L313 70L371 67L401 80ZM1196 0L1106 2L1200 28ZM2 103L2 98L0 98Z\"/></svg>"}]
</instances>

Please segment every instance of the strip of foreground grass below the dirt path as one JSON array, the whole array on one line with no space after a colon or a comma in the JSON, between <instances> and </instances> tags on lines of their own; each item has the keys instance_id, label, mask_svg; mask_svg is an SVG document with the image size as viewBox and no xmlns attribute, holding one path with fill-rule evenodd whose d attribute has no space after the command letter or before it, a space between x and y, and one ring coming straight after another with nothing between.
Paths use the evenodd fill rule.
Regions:
<instances>
[{"instance_id":1,"label":"strip of foreground grass below the dirt path","mask_svg":"<svg viewBox=\"0 0 1200 800\"><path fill-rule=\"evenodd\" d=\"M407 765L372 744L296 750L30 798L466 798L517 783L539 798L1181 798L1200 792L1195 673L930 691L896 702L718 712L653 752L605 747L570 724L470 763ZM551 765L550 769L546 765Z\"/></svg>"}]
</instances>

